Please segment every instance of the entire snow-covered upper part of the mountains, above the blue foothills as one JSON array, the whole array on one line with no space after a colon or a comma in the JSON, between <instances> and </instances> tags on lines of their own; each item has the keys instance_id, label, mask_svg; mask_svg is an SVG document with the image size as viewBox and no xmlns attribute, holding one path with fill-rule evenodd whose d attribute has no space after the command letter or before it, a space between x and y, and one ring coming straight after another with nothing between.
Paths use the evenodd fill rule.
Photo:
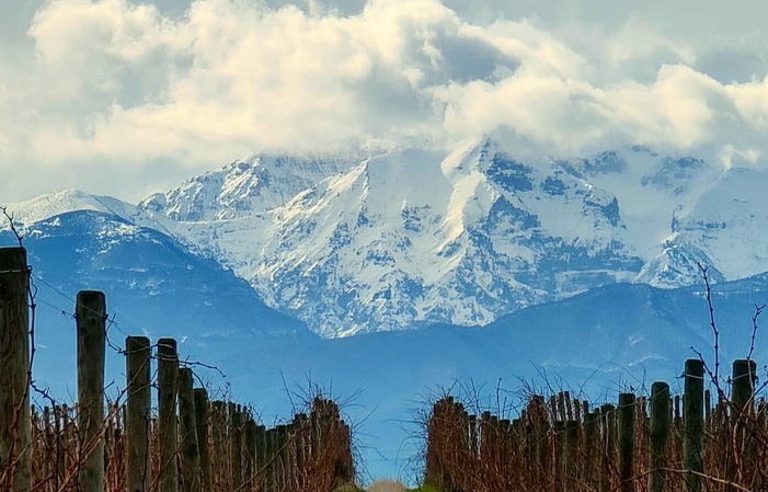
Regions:
<instances>
[{"instance_id":1,"label":"entire snow-covered upper part of the mountains, above the blue foothills","mask_svg":"<svg viewBox=\"0 0 768 492\"><path fill-rule=\"evenodd\" d=\"M672 288L768 270L768 173L643 147L520 162L490 139L352 158L257 155L138 206L77 192L22 222L94 209L154 228L323 336L486 324L622 282Z\"/></svg>"}]
</instances>

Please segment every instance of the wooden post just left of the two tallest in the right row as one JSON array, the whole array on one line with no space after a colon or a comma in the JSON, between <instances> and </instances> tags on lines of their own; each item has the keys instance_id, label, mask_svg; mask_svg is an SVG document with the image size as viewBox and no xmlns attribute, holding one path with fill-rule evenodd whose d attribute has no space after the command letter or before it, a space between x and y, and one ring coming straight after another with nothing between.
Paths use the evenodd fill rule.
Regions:
<instances>
[{"instance_id":1,"label":"wooden post just left of the two tallest in the right row","mask_svg":"<svg viewBox=\"0 0 768 492\"><path fill-rule=\"evenodd\" d=\"M664 492L669 453L669 385L656 381L651 385L651 490Z\"/></svg>"}]
</instances>

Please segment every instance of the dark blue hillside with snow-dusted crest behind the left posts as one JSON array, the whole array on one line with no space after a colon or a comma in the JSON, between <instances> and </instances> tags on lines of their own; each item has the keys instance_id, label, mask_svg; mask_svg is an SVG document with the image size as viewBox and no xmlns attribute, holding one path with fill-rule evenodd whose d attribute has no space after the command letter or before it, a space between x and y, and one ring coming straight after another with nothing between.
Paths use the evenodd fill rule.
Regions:
<instances>
[{"instance_id":1,"label":"dark blue hillside with snow-dusted crest behind the left posts","mask_svg":"<svg viewBox=\"0 0 768 492\"><path fill-rule=\"evenodd\" d=\"M106 294L116 345L126 334L176 336L185 353L205 358L210 347L222 350L242 336L252 345L316 337L299 321L264 305L245 281L216 261L117 215L133 210L127 204L69 191L12 207L33 267L44 352L71 347L71 327L56 327L62 313L74 310L74 296L83 289ZM0 244L15 243L7 228L0 229ZM70 352L61 351L53 362L73 359L74 350Z\"/></svg>"}]
</instances>

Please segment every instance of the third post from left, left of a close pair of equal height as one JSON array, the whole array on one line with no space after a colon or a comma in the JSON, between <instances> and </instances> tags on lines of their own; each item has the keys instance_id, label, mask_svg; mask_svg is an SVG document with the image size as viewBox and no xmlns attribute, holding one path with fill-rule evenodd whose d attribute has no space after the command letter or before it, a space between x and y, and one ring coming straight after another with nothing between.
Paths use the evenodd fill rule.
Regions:
<instances>
[{"instance_id":1,"label":"third post from left, left of a close pair of equal height","mask_svg":"<svg viewBox=\"0 0 768 492\"><path fill-rule=\"evenodd\" d=\"M126 435L128 439L127 487L128 492L149 492L152 483L150 459L151 421L151 352L146 336L125 339L126 378Z\"/></svg>"}]
</instances>

